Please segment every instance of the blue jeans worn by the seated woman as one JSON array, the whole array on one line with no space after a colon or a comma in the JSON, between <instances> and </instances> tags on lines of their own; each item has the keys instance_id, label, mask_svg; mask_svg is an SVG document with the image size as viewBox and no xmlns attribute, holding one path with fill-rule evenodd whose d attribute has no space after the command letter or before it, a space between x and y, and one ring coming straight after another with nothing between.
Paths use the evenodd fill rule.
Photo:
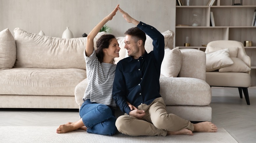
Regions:
<instances>
[{"instance_id":1,"label":"blue jeans worn by the seated woman","mask_svg":"<svg viewBox=\"0 0 256 143\"><path fill-rule=\"evenodd\" d=\"M87 133L114 135L117 131L115 110L111 106L87 99L82 104L79 115L87 127Z\"/></svg>"}]
</instances>

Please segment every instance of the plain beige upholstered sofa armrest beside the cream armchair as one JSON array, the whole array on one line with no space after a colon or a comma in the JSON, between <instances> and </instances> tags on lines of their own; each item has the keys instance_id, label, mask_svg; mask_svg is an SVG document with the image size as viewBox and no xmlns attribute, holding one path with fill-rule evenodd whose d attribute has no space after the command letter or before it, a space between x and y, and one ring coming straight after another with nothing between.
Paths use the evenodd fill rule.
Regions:
<instances>
[{"instance_id":1,"label":"plain beige upholstered sofa armrest beside the cream armchair","mask_svg":"<svg viewBox=\"0 0 256 143\"><path fill-rule=\"evenodd\" d=\"M178 77L198 78L205 81L206 55L197 49L180 49L181 70Z\"/></svg>"}]
</instances>

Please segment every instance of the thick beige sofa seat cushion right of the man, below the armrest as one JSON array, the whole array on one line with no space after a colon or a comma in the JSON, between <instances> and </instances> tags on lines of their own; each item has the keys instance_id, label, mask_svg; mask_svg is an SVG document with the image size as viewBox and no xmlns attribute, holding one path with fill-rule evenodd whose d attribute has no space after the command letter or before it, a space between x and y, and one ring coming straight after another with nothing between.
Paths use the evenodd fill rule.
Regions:
<instances>
[{"instance_id":1,"label":"thick beige sofa seat cushion right of the man, below the armrest","mask_svg":"<svg viewBox=\"0 0 256 143\"><path fill-rule=\"evenodd\" d=\"M166 105L209 105L211 87L202 79L160 77L160 95Z\"/></svg>"}]
</instances>

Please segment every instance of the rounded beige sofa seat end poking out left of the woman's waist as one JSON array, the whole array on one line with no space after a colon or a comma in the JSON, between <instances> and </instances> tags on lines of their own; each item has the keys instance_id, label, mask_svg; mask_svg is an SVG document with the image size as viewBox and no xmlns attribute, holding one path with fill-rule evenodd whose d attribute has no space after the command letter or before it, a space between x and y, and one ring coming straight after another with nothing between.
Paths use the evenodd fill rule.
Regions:
<instances>
[{"instance_id":1,"label":"rounded beige sofa seat end poking out left of the woman's waist","mask_svg":"<svg viewBox=\"0 0 256 143\"><path fill-rule=\"evenodd\" d=\"M78 85L75 87L75 102L79 105L79 107L83 104L83 97L84 92L87 87L87 78L81 81Z\"/></svg>"}]
</instances>

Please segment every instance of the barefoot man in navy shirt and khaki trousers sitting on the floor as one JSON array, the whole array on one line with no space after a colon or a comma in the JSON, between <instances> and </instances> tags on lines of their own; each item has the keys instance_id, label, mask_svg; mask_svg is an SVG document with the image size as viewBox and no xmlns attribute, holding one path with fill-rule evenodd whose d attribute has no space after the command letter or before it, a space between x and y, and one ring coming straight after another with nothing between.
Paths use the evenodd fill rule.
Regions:
<instances>
[{"instance_id":1,"label":"barefoot man in navy shirt and khaki trousers sitting on the floor","mask_svg":"<svg viewBox=\"0 0 256 143\"><path fill-rule=\"evenodd\" d=\"M128 56L117 63L113 98L122 112L117 118L119 132L126 135L193 135L195 132L217 132L211 122L192 124L174 114L168 114L160 95L160 69L164 56L164 37L154 27L133 19L119 6L128 23L125 46ZM145 51L145 33L153 39L154 49Z\"/></svg>"}]
</instances>

